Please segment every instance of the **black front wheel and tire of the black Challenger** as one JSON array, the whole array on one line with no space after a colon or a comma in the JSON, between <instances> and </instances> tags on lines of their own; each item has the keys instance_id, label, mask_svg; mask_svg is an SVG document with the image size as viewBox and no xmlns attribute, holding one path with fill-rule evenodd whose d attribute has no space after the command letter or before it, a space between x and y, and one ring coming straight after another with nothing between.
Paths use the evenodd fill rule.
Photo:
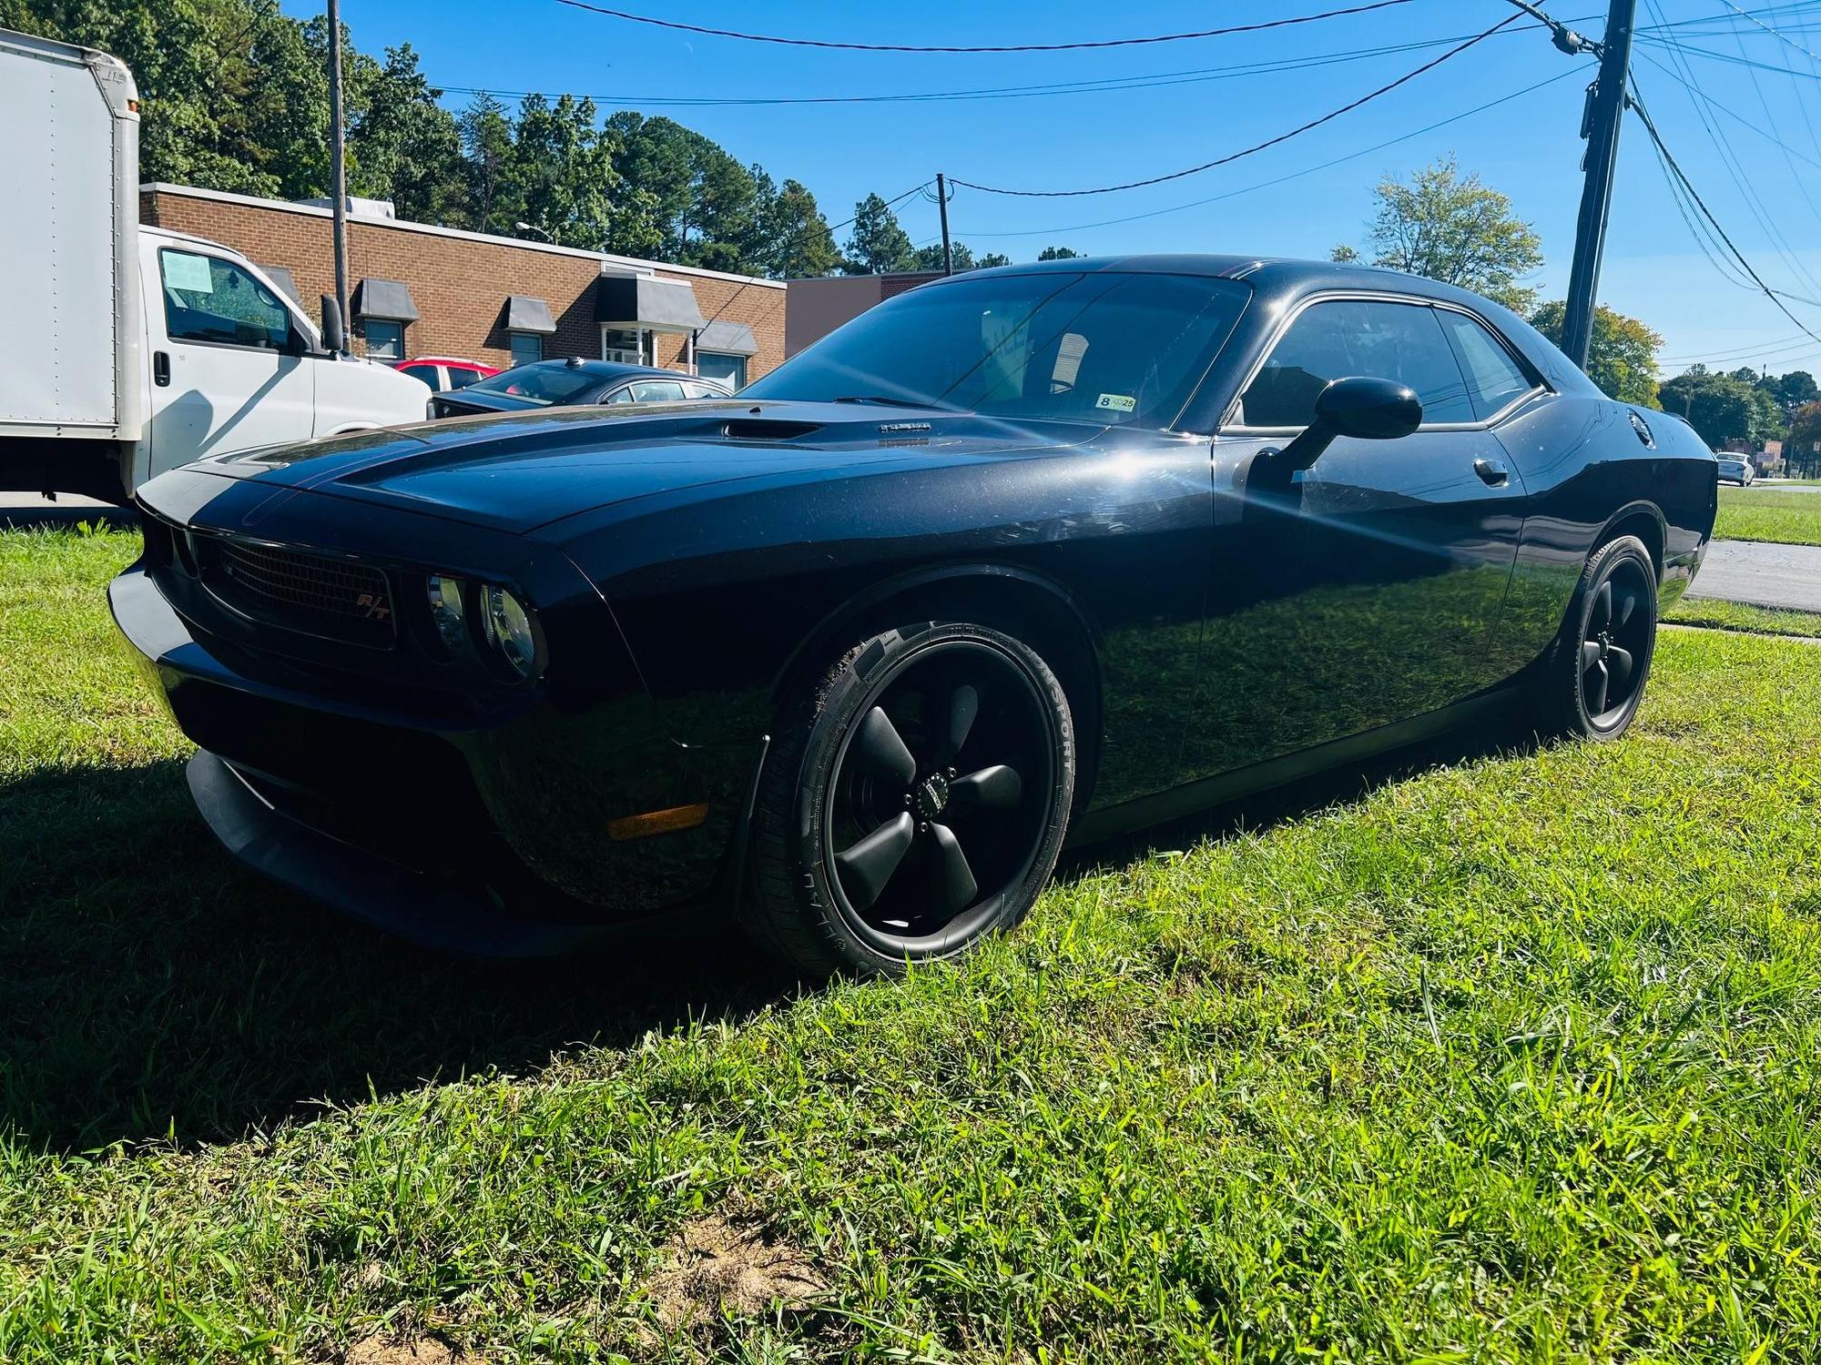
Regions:
<instances>
[{"instance_id":1,"label":"black front wheel and tire of the black Challenger","mask_svg":"<svg viewBox=\"0 0 1821 1365\"><path fill-rule=\"evenodd\" d=\"M1074 797L1074 726L1023 641L887 630L787 699L754 808L748 930L812 974L901 974L1016 925Z\"/></svg>"}]
</instances>

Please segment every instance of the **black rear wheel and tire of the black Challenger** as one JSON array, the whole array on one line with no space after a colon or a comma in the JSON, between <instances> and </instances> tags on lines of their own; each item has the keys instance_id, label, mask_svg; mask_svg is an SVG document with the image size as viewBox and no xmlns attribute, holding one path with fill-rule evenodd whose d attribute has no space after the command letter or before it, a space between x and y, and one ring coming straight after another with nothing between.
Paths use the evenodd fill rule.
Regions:
<instances>
[{"instance_id":1,"label":"black rear wheel and tire of the black Challenger","mask_svg":"<svg viewBox=\"0 0 1821 1365\"><path fill-rule=\"evenodd\" d=\"M1533 684L1548 737L1617 739L1632 726L1657 650L1657 566L1644 542L1621 535L1581 570L1568 619Z\"/></svg>"}]
</instances>

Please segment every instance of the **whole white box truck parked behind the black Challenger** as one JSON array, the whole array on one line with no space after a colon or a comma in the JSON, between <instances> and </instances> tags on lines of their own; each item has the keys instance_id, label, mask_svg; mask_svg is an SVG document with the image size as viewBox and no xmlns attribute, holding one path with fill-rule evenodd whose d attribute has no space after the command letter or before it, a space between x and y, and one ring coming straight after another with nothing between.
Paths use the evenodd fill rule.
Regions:
<instances>
[{"instance_id":1,"label":"whole white box truck parked behind the black Challenger","mask_svg":"<svg viewBox=\"0 0 1821 1365\"><path fill-rule=\"evenodd\" d=\"M138 222L115 56L0 29L0 490L124 499L204 455L422 420L251 260ZM326 339L326 340L324 340Z\"/></svg>"}]
</instances>

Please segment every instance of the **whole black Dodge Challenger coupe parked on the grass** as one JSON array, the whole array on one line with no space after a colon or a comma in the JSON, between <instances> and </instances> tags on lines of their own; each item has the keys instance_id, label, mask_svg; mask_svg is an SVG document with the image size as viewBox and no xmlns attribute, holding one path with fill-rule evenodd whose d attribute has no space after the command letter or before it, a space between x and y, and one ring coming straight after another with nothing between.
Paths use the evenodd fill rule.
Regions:
<instances>
[{"instance_id":1,"label":"whole black Dodge Challenger coupe parked on the grass","mask_svg":"<svg viewBox=\"0 0 1821 1365\"><path fill-rule=\"evenodd\" d=\"M1134 257L920 288L734 399L138 504L115 619L253 868L463 952L730 906L890 972L1065 839L1493 712L1623 733L1715 477L1484 298Z\"/></svg>"}]
</instances>

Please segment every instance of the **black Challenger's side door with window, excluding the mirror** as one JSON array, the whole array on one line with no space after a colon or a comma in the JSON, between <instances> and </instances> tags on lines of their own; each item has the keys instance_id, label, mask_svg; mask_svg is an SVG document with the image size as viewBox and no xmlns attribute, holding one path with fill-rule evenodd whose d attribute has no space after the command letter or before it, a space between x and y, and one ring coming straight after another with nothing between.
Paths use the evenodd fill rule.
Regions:
<instances>
[{"instance_id":1,"label":"black Challenger's side door with window, excluding the mirror","mask_svg":"<svg viewBox=\"0 0 1821 1365\"><path fill-rule=\"evenodd\" d=\"M1415 389L1417 431L1278 451L1346 377ZM1424 300L1326 297L1297 311L1215 442L1231 471L1187 777L1422 715L1501 679L1491 648L1524 488L1493 413ZM1216 490L1218 491L1218 490Z\"/></svg>"}]
</instances>

